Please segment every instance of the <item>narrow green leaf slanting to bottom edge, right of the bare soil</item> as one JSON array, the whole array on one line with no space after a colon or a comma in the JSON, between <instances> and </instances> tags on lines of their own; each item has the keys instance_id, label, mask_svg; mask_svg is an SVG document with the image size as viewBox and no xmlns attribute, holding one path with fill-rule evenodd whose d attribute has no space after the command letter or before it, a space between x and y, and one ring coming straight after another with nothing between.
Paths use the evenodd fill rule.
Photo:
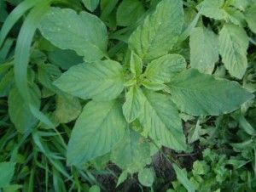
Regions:
<instances>
[{"instance_id":1,"label":"narrow green leaf slanting to bottom edge, right of the bare soil","mask_svg":"<svg viewBox=\"0 0 256 192\"><path fill-rule=\"evenodd\" d=\"M195 192L195 187L189 181L186 169L180 169L179 167L177 167L176 164L172 164L172 167L174 168L174 170L176 172L177 180L181 184L183 184L183 186L188 190L188 192Z\"/></svg>"}]
</instances>

